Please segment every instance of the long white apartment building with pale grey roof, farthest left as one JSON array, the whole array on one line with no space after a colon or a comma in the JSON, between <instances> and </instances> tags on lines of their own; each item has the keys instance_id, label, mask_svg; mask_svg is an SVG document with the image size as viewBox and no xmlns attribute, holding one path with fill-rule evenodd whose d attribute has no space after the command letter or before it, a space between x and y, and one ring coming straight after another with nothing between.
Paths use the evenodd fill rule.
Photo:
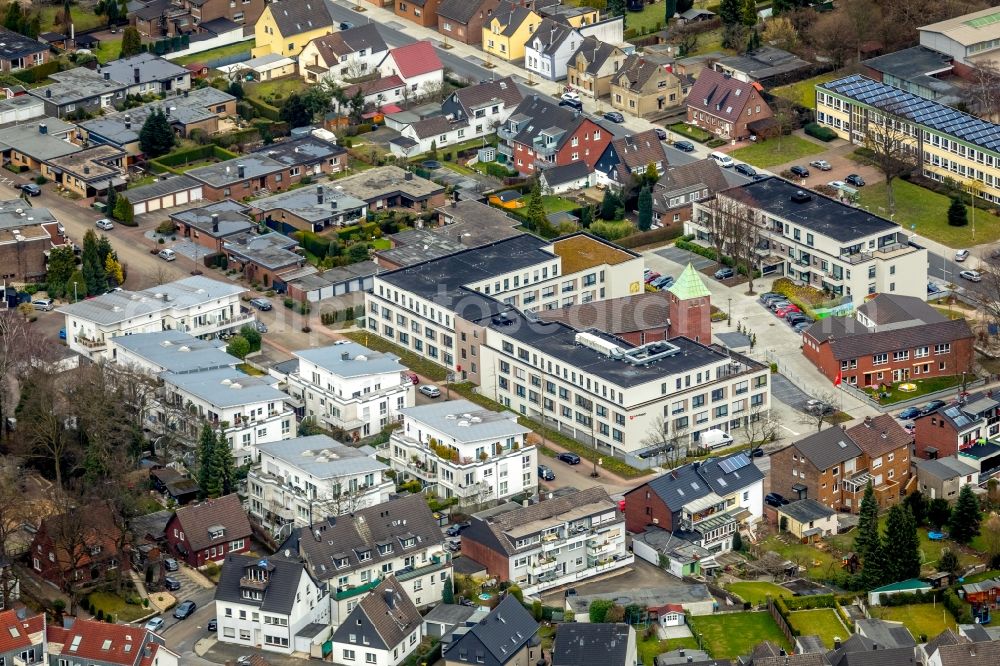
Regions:
<instances>
[{"instance_id":1,"label":"long white apartment building with pale grey roof, farthest left","mask_svg":"<svg viewBox=\"0 0 1000 666\"><path fill-rule=\"evenodd\" d=\"M142 291L116 291L58 308L70 349L106 358L119 335L178 330L195 337L236 331L256 320L240 305L243 287L198 275Z\"/></svg>"}]
</instances>

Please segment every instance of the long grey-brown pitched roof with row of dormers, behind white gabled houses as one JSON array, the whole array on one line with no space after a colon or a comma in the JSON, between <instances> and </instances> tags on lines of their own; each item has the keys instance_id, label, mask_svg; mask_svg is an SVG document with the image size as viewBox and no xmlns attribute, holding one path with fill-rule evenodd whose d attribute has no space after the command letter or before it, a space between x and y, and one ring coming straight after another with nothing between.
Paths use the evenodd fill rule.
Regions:
<instances>
[{"instance_id":1,"label":"long grey-brown pitched roof with row of dormers, behind white gabled houses","mask_svg":"<svg viewBox=\"0 0 1000 666\"><path fill-rule=\"evenodd\" d=\"M409 538L415 543L404 547ZM359 566L378 568L382 560L395 560L400 554L421 552L443 543L444 534L424 496L407 495L297 529L279 551L298 553L314 578L328 580ZM382 555L376 544L392 544L393 552ZM362 565L358 553L365 551L370 553L370 559ZM347 564L337 568L341 559L346 559Z\"/></svg>"}]
</instances>

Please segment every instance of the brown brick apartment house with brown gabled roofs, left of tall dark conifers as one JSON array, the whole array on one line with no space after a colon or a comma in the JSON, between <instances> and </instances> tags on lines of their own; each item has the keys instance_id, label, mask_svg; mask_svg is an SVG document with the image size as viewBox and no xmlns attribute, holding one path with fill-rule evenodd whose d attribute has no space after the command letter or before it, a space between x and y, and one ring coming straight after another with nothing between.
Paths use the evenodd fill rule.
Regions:
<instances>
[{"instance_id":1,"label":"brown brick apartment house with brown gabled roofs, left of tall dark conifers","mask_svg":"<svg viewBox=\"0 0 1000 666\"><path fill-rule=\"evenodd\" d=\"M771 454L771 491L856 513L871 483L879 506L890 507L910 483L911 444L889 414L827 428Z\"/></svg>"}]
</instances>

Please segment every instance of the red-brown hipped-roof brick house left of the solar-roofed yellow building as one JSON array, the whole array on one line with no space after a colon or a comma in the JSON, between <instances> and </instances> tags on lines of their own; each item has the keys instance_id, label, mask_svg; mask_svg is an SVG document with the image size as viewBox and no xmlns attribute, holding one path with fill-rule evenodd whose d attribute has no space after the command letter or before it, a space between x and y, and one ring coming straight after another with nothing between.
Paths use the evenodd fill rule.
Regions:
<instances>
[{"instance_id":1,"label":"red-brown hipped-roof brick house left of the solar-roofed yellow building","mask_svg":"<svg viewBox=\"0 0 1000 666\"><path fill-rule=\"evenodd\" d=\"M755 134L748 125L774 116L760 95L759 83L744 83L705 68L687 97L687 120L712 134L742 140Z\"/></svg>"}]
</instances>

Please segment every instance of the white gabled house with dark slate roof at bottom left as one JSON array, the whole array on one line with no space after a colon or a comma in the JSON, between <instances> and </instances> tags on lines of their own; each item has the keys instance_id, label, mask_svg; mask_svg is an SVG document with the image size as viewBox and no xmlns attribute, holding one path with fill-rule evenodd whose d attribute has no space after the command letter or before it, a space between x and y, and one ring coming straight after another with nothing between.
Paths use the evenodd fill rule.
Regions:
<instances>
[{"instance_id":1,"label":"white gabled house with dark slate roof at bottom left","mask_svg":"<svg viewBox=\"0 0 1000 666\"><path fill-rule=\"evenodd\" d=\"M216 638L267 652L311 654L330 636L328 598L327 586L301 562L227 555L215 589Z\"/></svg>"}]
</instances>

